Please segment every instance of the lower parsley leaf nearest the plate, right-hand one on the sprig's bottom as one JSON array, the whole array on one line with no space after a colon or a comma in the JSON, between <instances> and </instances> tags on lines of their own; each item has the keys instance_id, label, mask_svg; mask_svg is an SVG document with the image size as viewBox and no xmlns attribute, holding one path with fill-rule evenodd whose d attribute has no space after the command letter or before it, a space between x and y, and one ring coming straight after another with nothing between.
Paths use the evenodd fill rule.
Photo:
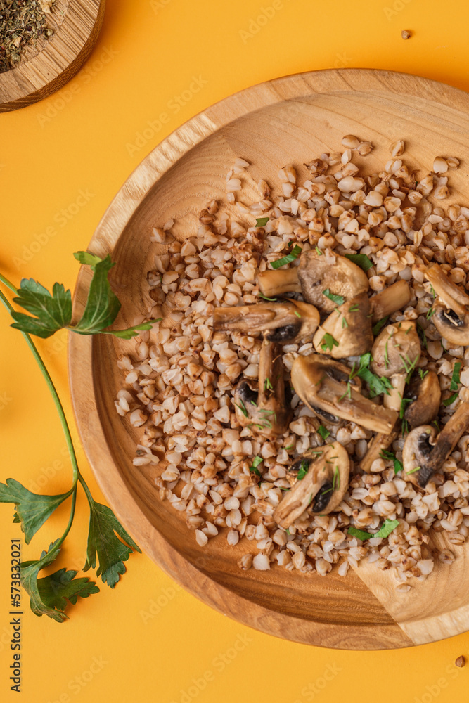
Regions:
<instances>
[{"instance_id":1,"label":"lower parsley leaf nearest the plate, right-hand one on the sprig's bottom","mask_svg":"<svg viewBox=\"0 0 469 703\"><path fill-rule=\"evenodd\" d=\"M127 561L132 550L141 552L141 549L127 534L107 505L96 503L91 498L91 500L89 499L89 507L88 546L83 571L88 571L90 567L92 569L96 567L96 555L98 555L99 567L96 570L96 575L101 575L103 583L108 583L110 588L114 588L119 581L119 574L125 573L124 562ZM117 535L127 544L121 542Z\"/></svg>"}]
</instances>

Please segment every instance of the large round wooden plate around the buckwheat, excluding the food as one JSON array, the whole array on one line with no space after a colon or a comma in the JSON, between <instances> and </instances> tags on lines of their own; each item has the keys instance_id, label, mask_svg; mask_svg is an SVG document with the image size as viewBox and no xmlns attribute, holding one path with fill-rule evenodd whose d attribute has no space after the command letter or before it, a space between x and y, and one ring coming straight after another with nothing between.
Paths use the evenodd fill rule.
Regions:
<instances>
[{"instance_id":1,"label":"large round wooden plate around the buckwheat, excluding the food","mask_svg":"<svg viewBox=\"0 0 469 703\"><path fill-rule=\"evenodd\" d=\"M165 139L129 177L105 213L89 249L117 262L113 286L122 301L120 323L131 325L149 302L146 271L157 245L153 226L184 219L181 238L195 232L198 212L211 198L226 201L226 172L244 157L249 188L262 176L276 183L286 163L340 149L345 134L375 144L369 169L390 158L389 146L406 141L411 160L427 173L436 155L456 156L453 200L469 202L469 96L427 79L386 71L328 70L277 79L242 91L193 117ZM257 196L258 197L258 196ZM233 212L233 210L232 210ZM84 304L90 272L78 278L76 304ZM122 372L117 355L134 342L112 337L70 339L70 381L79 432L96 478L136 541L176 581L220 612L297 642L345 649L380 649L428 643L468 629L469 562L466 547L451 567L435 570L408 593L395 591L390 571L360 565L342 578L274 567L240 571L245 545L226 538L195 542L181 515L161 502L150 471L132 465L140 430L114 407ZM145 469L145 467L144 467ZM444 537L434 537L441 547Z\"/></svg>"}]
</instances>

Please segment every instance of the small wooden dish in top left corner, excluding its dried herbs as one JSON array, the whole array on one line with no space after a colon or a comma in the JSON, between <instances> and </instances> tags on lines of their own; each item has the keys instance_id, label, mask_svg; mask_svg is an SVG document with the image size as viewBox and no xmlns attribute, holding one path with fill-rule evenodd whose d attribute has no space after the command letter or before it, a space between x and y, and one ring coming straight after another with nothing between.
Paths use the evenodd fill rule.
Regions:
<instances>
[{"instance_id":1,"label":"small wooden dish in top left corner, excluding its dried herbs","mask_svg":"<svg viewBox=\"0 0 469 703\"><path fill-rule=\"evenodd\" d=\"M0 73L0 112L37 103L68 83L89 57L103 24L105 0L56 0L50 39L29 46L17 68Z\"/></svg>"}]
</instances>

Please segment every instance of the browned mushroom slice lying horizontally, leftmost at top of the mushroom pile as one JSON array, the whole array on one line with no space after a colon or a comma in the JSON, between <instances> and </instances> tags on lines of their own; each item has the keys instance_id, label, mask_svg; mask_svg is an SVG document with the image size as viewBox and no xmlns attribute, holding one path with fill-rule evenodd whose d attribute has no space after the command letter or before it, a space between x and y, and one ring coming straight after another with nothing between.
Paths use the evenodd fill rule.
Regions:
<instances>
[{"instance_id":1,"label":"browned mushroom slice lying horizontally, leftmost at top of the mushroom pile","mask_svg":"<svg viewBox=\"0 0 469 703\"><path fill-rule=\"evenodd\" d=\"M309 337L319 325L314 305L297 300L215 308L213 328L238 330L248 335L262 333L269 342L291 344Z\"/></svg>"}]
</instances>

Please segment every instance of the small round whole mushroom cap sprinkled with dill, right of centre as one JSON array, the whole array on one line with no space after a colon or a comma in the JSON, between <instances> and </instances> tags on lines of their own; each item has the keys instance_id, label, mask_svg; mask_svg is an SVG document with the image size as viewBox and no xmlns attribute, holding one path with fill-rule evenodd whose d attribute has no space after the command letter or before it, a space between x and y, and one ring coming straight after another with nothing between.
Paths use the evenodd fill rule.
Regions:
<instances>
[{"instance_id":1,"label":"small round whole mushroom cap sprinkled with dill, right of centre","mask_svg":"<svg viewBox=\"0 0 469 703\"><path fill-rule=\"evenodd\" d=\"M371 370L378 376L391 378L409 373L409 368L415 368L420 359L416 323L404 320L387 325L376 337L371 356Z\"/></svg>"}]
</instances>

